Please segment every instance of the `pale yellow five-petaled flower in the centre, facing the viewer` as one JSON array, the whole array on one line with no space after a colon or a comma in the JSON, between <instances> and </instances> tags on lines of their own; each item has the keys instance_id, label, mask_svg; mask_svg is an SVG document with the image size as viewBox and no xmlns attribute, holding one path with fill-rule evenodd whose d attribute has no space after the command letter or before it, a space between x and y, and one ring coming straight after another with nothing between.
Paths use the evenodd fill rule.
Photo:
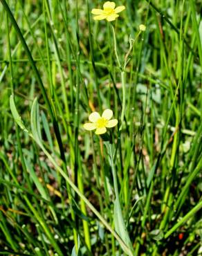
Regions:
<instances>
[{"instance_id":1,"label":"pale yellow five-petaled flower in the centre, facing the viewer","mask_svg":"<svg viewBox=\"0 0 202 256\"><path fill-rule=\"evenodd\" d=\"M86 124L84 124L84 129L87 131L92 131L96 129L95 134L105 134L107 131L107 128L115 127L118 124L117 119L111 119L113 116L113 112L111 109L105 109L102 113L102 117L100 116L100 113L93 112L89 116L89 121ZM111 119L111 120L110 120Z\"/></svg>"}]
</instances>

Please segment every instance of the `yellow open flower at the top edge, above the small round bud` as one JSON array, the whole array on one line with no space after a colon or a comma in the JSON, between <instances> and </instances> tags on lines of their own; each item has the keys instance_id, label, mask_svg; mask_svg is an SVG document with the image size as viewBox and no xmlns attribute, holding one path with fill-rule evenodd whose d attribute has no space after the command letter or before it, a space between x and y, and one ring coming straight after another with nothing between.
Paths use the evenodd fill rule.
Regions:
<instances>
[{"instance_id":1,"label":"yellow open flower at the top edge, above the small round bud","mask_svg":"<svg viewBox=\"0 0 202 256\"><path fill-rule=\"evenodd\" d=\"M93 17L95 20L107 19L107 21L115 21L115 19L119 16L118 13L125 10L125 6L118 6L115 8L116 3L107 1L103 5L103 10L101 9L93 9L91 13L93 15L97 15Z\"/></svg>"}]
</instances>

